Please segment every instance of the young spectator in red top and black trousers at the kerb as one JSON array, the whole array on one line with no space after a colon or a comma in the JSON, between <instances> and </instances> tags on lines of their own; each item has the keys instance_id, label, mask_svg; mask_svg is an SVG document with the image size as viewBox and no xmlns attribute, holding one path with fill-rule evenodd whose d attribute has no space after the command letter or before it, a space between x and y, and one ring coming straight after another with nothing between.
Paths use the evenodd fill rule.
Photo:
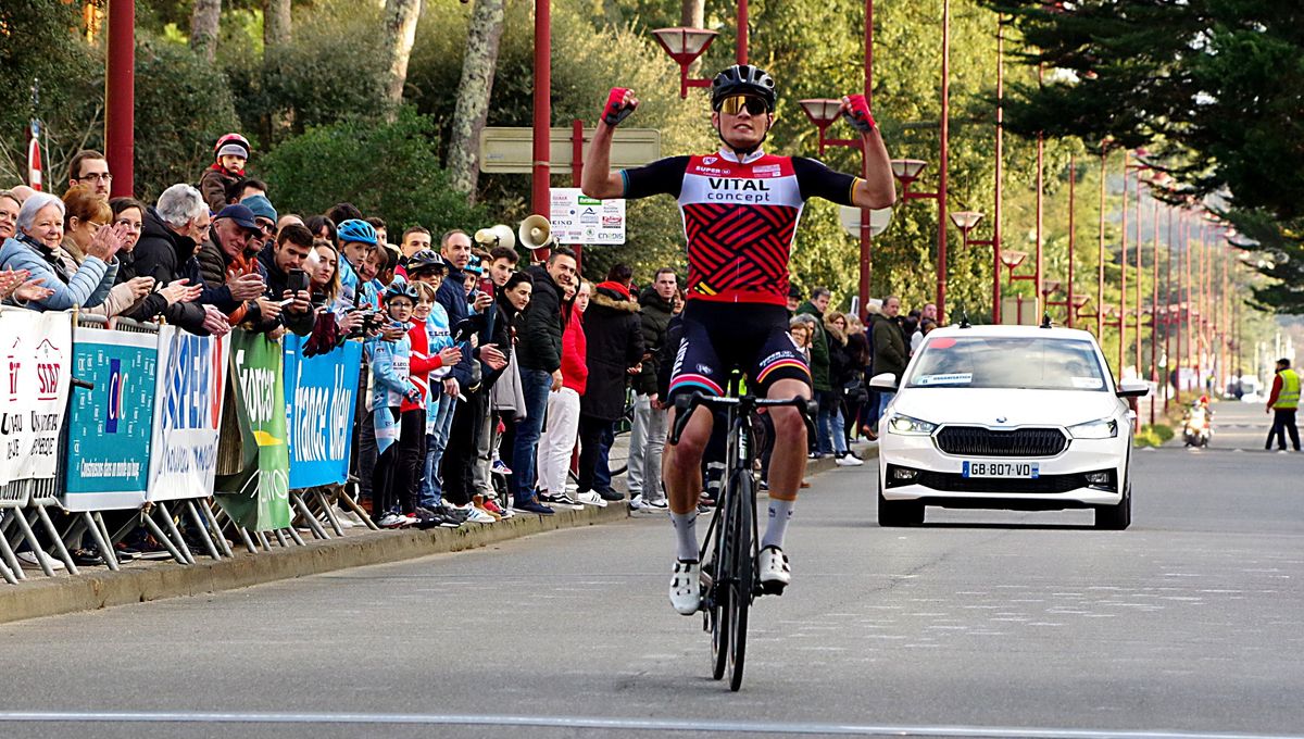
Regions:
<instances>
[{"instance_id":1,"label":"young spectator in red top and black trousers at the kerb","mask_svg":"<svg viewBox=\"0 0 1304 739\"><path fill-rule=\"evenodd\" d=\"M434 287L425 283L412 283L412 285L416 288L417 301L408 325L408 340L412 343L408 378L420 391L421 398L416 401L404 399L399 407L399 465L395 487L398 487L403 515L411 519L408 523L422 525L437 523L433 511L417 508L421 474L425 469L425 401L430 388L430 373L460 362L462 351L456 347L449 347L437 355L430 353L425 319L430 315L430 306L434 305Z\"/></svg>"}]
</instances>

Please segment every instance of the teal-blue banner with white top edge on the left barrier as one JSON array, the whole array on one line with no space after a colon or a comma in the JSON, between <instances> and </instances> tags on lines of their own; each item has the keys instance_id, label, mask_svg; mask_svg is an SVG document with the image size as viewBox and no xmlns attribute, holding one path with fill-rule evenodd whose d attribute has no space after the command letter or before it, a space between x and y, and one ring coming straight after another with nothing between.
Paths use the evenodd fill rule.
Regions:
<instances>
[{"instance_id":1,"label":"teal-blue banner with white top edge on the left barrier","mask_svg":"<svg viewBox=\"0 0 1304 739\"><path fill-rule=\"evenodd\" d=\"M156 334L103 328L73 332L74 390L68 413L68 464L61 503L69 511L138 508L150 480Z\"/></svg>"}]
</instances>

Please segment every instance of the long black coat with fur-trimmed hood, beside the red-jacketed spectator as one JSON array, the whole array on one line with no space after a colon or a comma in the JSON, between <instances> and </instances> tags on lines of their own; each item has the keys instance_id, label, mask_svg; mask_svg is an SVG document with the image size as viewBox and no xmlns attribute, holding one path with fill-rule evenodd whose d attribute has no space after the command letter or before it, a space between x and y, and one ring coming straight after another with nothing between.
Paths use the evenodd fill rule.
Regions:
<instances>
[{"instance_id":1,"label":"long black coat with fur-trimmed hood, beside the red-jacketed spectator","mask_svg":"<svg viewBox=\"0 0 1304 739\"><path fill-rule=\"evenodd\" d=\"M610 283L593 291L584 312L588 343L588 384L579 401L582 416L615 421L625 414L629 369L643 360L643 322L639 304Z\"/></svg>"}]
</instances>

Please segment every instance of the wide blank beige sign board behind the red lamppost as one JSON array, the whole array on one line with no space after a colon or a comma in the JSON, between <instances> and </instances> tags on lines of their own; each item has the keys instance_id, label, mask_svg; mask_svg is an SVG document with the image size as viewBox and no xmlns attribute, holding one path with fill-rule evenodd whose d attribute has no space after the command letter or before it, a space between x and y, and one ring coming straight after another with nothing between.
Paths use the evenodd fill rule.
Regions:
<instances>
[{"instance_id":1,"label":"wide blank beige sign board behind the red lamppost","mask_svg":"<svg viewBox=\"0 0 1304 739\"><path fill-rule=\"evenodd\" d=\"M571 129L554 128L549 136L548 166L565 169L571 166ZM584 145L593 138L593 129L584 129ZM480 133L480 171L496 175L524 175L535 162L533 136L528 128L485 128ZM612 168L642 167L661 158L661 132L652 128L619 128L612 139Z\"/></svg>"}]
</instances>

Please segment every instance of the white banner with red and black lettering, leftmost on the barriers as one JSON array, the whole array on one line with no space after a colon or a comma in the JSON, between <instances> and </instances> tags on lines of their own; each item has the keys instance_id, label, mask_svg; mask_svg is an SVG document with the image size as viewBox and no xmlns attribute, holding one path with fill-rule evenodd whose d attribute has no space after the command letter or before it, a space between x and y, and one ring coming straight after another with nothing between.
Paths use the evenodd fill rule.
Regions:
<instances>
[{"instance_id":1,"label":"white banner with red and black lettering, leftmost on the barriers","mask_svg":"<svg viewBox=\"0 0 1304 739\"><path fill-rule=\"evenodd\" d=\"M0 485L55 477L72 349L70 313L0 310Z\"/></svg>"}]
</instances>

